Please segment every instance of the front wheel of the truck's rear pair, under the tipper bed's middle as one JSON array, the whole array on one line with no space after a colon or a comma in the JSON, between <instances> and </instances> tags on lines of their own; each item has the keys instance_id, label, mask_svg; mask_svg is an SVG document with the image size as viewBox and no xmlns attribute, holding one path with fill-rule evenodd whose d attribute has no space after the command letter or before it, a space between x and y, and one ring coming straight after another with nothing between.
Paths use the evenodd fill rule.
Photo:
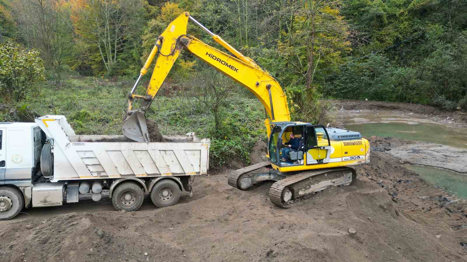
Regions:
<instances>
[{"instance_id":1,"label":"front wheel of the truck's rear pair, under the tipper bed's middle","mask_svg":"<svg viewBox=\"0 0 467 262\"><path fill-rule=\"evenodd\" d=\"M112 204L117 210L136 211L144 199L140 186L133 182L123 182L112 193Z\"/></svg>"}]
</instances>

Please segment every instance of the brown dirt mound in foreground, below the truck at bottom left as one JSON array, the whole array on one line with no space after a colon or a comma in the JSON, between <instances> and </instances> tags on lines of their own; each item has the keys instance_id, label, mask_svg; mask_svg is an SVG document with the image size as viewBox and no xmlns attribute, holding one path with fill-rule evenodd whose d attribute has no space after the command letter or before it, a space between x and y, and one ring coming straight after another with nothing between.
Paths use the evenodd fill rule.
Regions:
<instances>
[{"instance_id":1,"label":"brown dirt mound in foreground, below the truck at bottom left","mask_svg":"<svg viewBox=\"0 0 467 262\"><path fill-rule=\"evenodd\" d=\"M141 241L145 235L143 230L129 230L125 216L108 212L71 213L10 225L1 234L8 244L0 247L0 255L5 262L18 261L18 258L24 261L144 261L145 253L164 246L158 240ZM170 247L161 249L151 252L151 261L160 261L169 254L183 255Z\"/></svg>"}]
</instances>

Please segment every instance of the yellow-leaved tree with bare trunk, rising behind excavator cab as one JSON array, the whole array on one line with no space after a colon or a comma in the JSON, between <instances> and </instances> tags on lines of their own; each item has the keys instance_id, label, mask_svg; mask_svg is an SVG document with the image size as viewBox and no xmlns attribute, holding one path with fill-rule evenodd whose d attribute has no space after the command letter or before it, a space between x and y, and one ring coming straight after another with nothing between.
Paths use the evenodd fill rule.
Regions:
<instances>
[{"instance_id":1,"label":"yellow-leaved tree with bare trunk, rising behind excavator cab","mask_svg":"<svg viewBox=\"0 0 467 262\"><path fill-rule=\"evenodd\" d=\"M323 75L329 73L326 69L336 69L350 50L350 43L346 22L337 8L339 0L303 0L300 4L299 8L297 5L289 8L290 24L286 22L289 38L279 48L295 71L304 77L311 100L318 67Z\"/></svg>"}]
</instances>

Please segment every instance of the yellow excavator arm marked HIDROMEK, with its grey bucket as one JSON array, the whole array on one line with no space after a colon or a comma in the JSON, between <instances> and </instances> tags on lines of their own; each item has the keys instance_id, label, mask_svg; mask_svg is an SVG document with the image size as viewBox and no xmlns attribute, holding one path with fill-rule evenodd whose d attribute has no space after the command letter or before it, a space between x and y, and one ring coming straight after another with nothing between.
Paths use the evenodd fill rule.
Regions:
<instances>
[{"instance_id":1,"label":"yellow excavator arm marked HIDROMEK, with its grey bucket","mask_svg":"<svg viewBox=\"0 0 467 262\"><path fill-rule=\"evenodd\" d=\"M186 28L189 19L203 28L203 30L212 36L214 41L226 48L232 55L213 48L194 36L187 35ZM218 35L213 34L192 18L188 12L184 12L172 21L157 38L154 48L140 71L140 76L128 96L127 115L122 125L123 134L127 138L139 142L150 141L144 113L151 105L157 91L183 48L219 72L229 76L235 82L246 87L261 101L268 114L268 118L264 120L268 135L271 132L270 122L290 121L287 97L275 77L261 69L251 58L242 55ZM157 57L146 95L134 94L138 81L146 74L152 60L157 54L159 56ZM133 109L133 99L135 98L143 100L140 109Z\"/></svg>"}]
</instances>

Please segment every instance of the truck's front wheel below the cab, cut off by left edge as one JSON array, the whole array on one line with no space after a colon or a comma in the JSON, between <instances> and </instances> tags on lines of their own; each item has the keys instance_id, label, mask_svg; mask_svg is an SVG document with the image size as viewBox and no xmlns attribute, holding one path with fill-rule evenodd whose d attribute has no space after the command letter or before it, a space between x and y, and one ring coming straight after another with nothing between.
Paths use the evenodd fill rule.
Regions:
<instances>
[{"instance_id":1,"label":"truck's front wheel below the cab, cut off by left edge","mask_svg":"<svg viewBox=\"0 0 467 262\"><path fill-rule=\"evenodd\" d=\"M14 218L24 207L23 194L14 187L0 187L0 220Z\"/></svg>"}]
</instances>

